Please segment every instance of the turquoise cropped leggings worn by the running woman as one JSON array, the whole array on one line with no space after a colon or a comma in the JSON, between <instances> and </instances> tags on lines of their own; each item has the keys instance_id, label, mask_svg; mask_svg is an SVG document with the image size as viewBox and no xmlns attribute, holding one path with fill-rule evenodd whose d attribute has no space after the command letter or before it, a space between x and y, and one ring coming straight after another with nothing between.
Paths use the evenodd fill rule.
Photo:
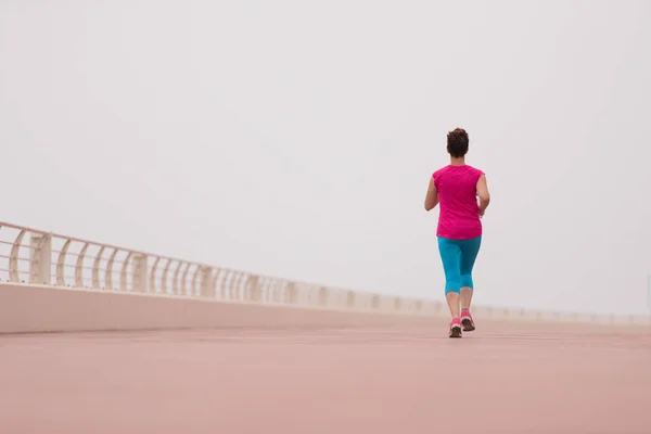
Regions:
<instances>
[{"instance_id":1,"label":"turquoise cropped leggings worn by the running woman","mask_svg":"<svg viewBox=\"0 0 651 434\"><path fill-rule=\"evenodd\" d=\"M445 272L445 294L459 293L462 288L474 289L472 267L474 266L482 237L471 240L451 240L438 237L438 252Z\"/></svg>"}]
</instances>

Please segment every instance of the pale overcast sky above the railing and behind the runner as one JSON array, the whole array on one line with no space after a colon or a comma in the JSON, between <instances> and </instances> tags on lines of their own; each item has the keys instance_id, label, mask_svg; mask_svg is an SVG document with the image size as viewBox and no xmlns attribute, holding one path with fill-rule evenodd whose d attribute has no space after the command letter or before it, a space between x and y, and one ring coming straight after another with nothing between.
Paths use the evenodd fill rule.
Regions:
<instances>
[{"instance_id":1,"label":"pale overcast sky above the railing and behind the runner","mask_svg":"<svg viewBox=\"0 0 651 434\"><path fill-rule=\"evenodd\" d=\"M651 3L0 0L2 216L443 299L446 131L477 303L643 312Z\"/></svg>"}]
</instances>

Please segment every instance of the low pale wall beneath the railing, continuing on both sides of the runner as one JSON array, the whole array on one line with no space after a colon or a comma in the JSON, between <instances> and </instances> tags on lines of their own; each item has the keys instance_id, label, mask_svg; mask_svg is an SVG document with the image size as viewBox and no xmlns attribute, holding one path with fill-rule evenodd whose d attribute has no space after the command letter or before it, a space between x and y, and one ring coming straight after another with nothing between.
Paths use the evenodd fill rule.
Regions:
<instances>
[{"instance_id":1,"label":"low pale wall beneath the railing, continuing on both sides of the runner","mask_svg":"<svg viewBox=\"0 0 651 434\"><path fill-rule=\"evenodd\" d=\"M648 317L559 317L518 310L478 309L482 327L505 330L516 321L521 331L566 330L620 333L642 330ZM0 283L0 334L178 329L323 329L392 328L446 330L445 309L419 314L360 311L307 306L264 305L129 292Z\"/></svg>"}]
</instances>

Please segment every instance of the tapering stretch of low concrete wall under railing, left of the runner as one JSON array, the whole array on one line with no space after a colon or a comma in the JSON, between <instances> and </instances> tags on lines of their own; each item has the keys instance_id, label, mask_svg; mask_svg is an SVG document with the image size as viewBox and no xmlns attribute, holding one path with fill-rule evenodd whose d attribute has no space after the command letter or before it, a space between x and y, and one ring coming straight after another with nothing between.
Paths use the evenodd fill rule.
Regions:
<instances>
[{"instance_id":1,"label":"tapering stretch of low concrete wall under railing, left of the runner","mask_svg":"<svg viewBox=\"0 0 651 434\"><path fill-rule=\"evenodd\" d=\"M0 284L0 333L432 323L408 315L323 310L27 284Z\"/></svg>"}]
</instances>

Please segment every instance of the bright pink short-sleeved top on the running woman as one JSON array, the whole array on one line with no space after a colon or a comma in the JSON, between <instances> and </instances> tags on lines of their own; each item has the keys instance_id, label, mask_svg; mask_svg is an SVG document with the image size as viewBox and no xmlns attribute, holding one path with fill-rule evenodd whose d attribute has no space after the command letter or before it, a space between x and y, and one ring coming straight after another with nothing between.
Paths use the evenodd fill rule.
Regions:
<instances>
[{"instance_id":1,"label":"bright pink short-sleeved top on the running woman","mask_svg":"<svg viewBox=\"0 0 651 434\"><path fill-rule=\"evenodd\" d=\"M441 207L436 237L470 240L482 235L476 197L482 175L482 170L468 165L445 166L432 175Z\"/></svg>"}]
</instances>

